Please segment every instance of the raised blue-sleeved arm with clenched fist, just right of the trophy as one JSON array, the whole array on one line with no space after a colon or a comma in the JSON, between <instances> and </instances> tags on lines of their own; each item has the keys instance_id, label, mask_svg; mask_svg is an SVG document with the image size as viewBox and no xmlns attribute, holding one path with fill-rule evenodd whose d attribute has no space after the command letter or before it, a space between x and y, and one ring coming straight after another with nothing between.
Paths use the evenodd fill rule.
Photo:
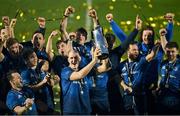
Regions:
<instances>
[{"instance_id":1,"label":"raised blue-sleeved arm with clenched fist, just right of the trophy","mask_svg":"<svg viewBox=\"0 0 180 116\"><path fill-rule=\"evenodd\" d=\"M127 36L123 32L123 30L117 25L117 23L113 20L113 15L111 13L106 15L106 20L110 23L114 34L119 38L121 42L123 42L127 38Z\"/></svg>"}]
</instances>

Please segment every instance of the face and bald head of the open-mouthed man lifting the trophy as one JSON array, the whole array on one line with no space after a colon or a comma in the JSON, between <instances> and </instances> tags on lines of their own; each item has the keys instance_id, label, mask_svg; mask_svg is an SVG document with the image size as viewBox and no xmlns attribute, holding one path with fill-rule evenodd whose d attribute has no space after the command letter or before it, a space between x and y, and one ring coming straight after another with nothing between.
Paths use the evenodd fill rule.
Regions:
<instances>
[{"instance_id":1,"label":"face and bald head of the open-mouthed man lifting the trophy","mask_svg":"<svg viewBox=\"0 0 180 116\"><path fill-rule=\"evenodd\" d=\"M79 63L80 63L80 56L78 54L78 52L75 51L70 51L68 54L68 62L69 62L69 67L76 70L79 67Z\"/></svg>"}]
</instances>

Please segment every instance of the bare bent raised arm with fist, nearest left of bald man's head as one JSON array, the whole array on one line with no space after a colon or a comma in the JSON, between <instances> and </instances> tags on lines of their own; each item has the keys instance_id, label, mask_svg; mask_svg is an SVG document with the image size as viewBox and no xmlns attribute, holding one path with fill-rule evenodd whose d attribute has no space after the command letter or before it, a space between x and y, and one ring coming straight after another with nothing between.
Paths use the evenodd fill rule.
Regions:
<instances>
[{"instance_id":1,"label":"bare bent raised arm with fist, nearest left of bald man's head","mask_svg":"<svg viewBox=\"0 0 180 116\"><path fill-rule=\"evenodd\" d=\"M52 61L54 58L54 53L52 52L52 40L53 38L58 35L58 31L52 31L52 33L50 34L48 41L47 41L47 45L46 45L46 53L48 54L49 60Z\"/></svg>"}]
</instances>

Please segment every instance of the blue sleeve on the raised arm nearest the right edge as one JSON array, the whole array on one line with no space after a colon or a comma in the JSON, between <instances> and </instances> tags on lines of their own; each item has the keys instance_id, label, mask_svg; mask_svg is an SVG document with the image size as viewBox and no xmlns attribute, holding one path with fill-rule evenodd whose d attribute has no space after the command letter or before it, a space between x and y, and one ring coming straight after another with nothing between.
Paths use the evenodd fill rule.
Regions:
<instances>
[{"instance_id":1,"label":"blue sleeve on the raised arm nearest the right edge","mask_svg":"<svg viewBox=\"0 0 180 116\"><path fill-rule=\"evenodd\" d=\"M166 39L167 41L171 41L172 40L172 36L173 36L173 23L168 23L167 27L166 27L166 30L167 30L167 34L166 34Z\"/></svg>"}]
</instances>

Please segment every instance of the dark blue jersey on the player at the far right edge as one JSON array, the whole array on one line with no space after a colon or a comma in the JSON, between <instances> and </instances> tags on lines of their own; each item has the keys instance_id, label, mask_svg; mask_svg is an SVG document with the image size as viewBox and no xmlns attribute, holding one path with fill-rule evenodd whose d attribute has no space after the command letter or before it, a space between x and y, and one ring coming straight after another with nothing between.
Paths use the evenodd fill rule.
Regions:
<instances>
[{"instance_id":1,"label":"dark blue jersey on the player at the far right edge","mask_svg":"<svg viewBox=\"0 0 180 116\"><path fill-rule=\"evenodd\" d=\"M158 112L160 114L180 114L180 60L165 60L161 65Z\"/></svg>"}]
</instances>

